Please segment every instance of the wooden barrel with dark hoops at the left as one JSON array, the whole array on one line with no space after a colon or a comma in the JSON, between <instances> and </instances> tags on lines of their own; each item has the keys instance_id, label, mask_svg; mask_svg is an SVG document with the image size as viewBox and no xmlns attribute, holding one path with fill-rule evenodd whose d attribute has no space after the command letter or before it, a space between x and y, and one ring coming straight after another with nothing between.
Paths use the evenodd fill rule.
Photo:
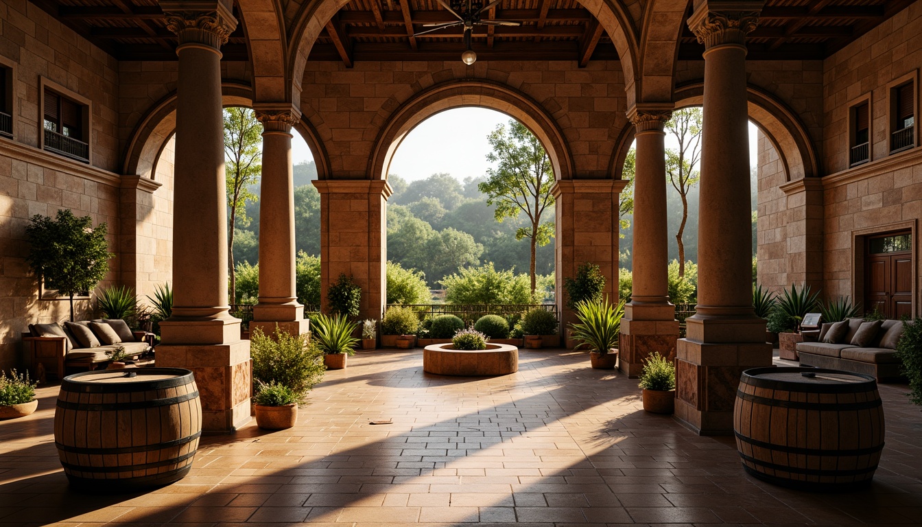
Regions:
<instances>
[{"instance_id":1,"label":"wooden barrel with dark hoops at the left","mask_svg":"<svg viewBox=\"0 0 922 527\"><path fill-rule=\"evenodd\" d=\"M61 381L54 444L70 484L129 492L183 479L202 435L195 377L182 368L92 371Z\"/></svg>"}]
</instances>

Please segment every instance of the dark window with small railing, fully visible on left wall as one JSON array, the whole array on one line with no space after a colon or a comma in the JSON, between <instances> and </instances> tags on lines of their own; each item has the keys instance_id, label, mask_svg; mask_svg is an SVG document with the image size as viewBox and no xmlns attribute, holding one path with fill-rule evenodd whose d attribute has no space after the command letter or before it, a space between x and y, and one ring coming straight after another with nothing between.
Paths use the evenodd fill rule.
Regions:
<instances>
[{"instance_id":1,"label":"dark window with small railing, fully visible on left wall","mask_svg":"<svg viewBox=\"0 0 922 527\"><path fill-rule=\"evenodd\" d=\"M46 87L43 111L44 149L89 162L88 107Z\"/></svg>"}]
</instances>

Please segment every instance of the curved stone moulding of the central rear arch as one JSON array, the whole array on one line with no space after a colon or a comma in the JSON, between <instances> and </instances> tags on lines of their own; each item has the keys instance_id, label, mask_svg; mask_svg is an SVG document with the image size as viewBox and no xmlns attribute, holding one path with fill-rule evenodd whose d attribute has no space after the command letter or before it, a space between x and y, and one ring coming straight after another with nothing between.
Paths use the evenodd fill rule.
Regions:
<instances>
[{"instance_id":1,"label":"curved stone moulding of the central rear arch","mask_svg":"<svg viewBox=\"0 0 922 527\"><path fill-rule=\"evenodd\" d=\"M401 104L374 140L369 179L386 179L397 148L413 128L434 114L466 106L490 108L518 119L544 145L556 178L573 179L573 156L557 122L526 94L486 79L449 80Z\"/></svg>"}]
</instances>

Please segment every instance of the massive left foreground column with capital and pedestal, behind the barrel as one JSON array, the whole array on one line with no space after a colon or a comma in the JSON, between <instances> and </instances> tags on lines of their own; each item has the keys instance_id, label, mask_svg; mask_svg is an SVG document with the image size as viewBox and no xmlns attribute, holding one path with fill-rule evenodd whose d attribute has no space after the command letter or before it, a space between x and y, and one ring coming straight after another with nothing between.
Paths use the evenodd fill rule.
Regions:
<instances>
[{"instance_id":1,"label":"massive left foreground column with capital and pedestal, behind the barrel","mask_svg":"<svg viewBox=\"0 0 922 527\"><path fill-rule=\"evenodd\" d=\"M250 420L250 342L228 314L227 197L219 47L236 27L230 3L162 1L179 36L173 310L157 365L192 370L205 430Z\"/></svg>"}]
</instances>

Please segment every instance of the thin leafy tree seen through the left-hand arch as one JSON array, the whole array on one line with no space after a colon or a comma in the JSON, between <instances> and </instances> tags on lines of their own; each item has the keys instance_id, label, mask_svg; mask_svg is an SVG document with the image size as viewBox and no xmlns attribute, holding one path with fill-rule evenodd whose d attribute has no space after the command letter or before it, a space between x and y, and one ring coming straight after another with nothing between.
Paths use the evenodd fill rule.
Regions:
<instances>
[{"instance_id":1,"label":"thin leafy tree seen through the left-hand arch","mask_svg":"<svg viewBox=\"0 0 922 527\"><path fill-rule=\"evenodd\" d=\"M250 186L259 181L262 172L260 160L263 126L249 108L228 108L224 110L224 157L227 162L228 208L231 210L230 233L228 237L228 272L231 275L231 298L237 291L237 274L234 268L233 239L238 224L250 224L246 215L246 202L255 202L258 197Z\"/></svg>"}]
</instances>

